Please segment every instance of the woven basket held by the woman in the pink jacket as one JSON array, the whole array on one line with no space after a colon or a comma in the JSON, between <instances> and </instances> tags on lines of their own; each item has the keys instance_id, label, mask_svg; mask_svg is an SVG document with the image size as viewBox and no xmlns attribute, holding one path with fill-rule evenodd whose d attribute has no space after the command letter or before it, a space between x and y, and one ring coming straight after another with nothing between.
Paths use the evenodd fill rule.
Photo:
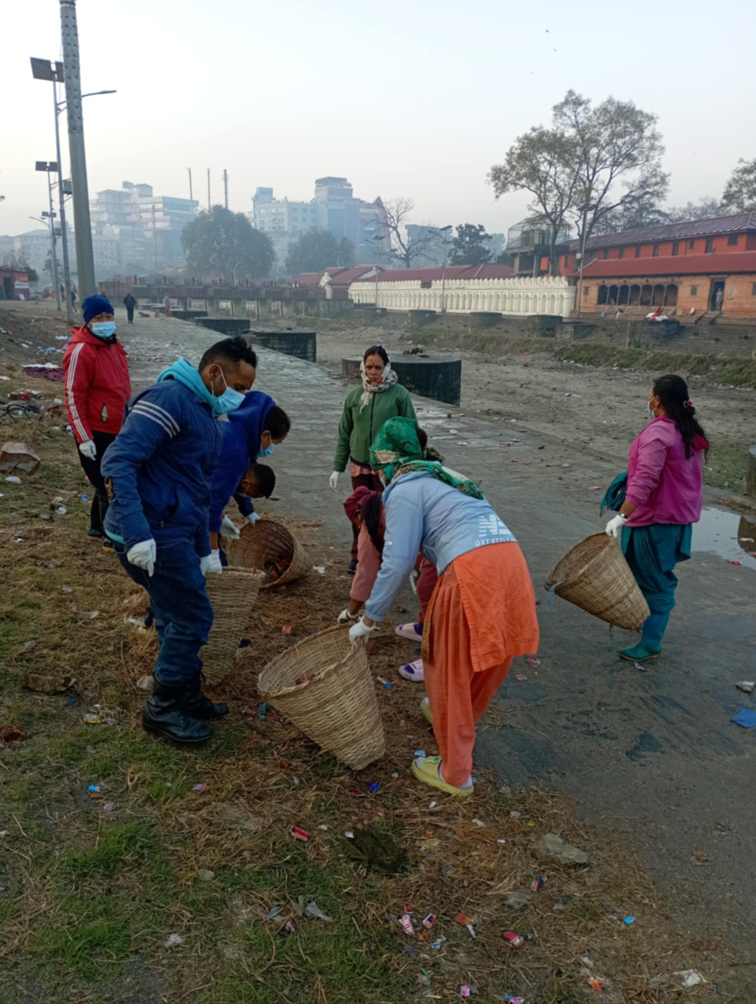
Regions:
<instances>
[{"instance_id":1,"label":"woven basket held by the woman in the pink jacket","mask_svg":"<svg viewBox=\"0 0 756 1004\"><path fill-rule=\"evenodd\" d=\"M621 548L605 533L575 544L551 569L544 589L616 628L637 631L651 613Z\"/></svg>"}]
</instances>

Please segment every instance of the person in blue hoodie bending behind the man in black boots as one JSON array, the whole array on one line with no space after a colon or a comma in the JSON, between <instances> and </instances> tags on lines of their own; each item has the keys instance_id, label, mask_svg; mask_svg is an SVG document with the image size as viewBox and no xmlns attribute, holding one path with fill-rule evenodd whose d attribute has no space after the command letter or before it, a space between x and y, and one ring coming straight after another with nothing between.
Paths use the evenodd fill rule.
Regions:
<instances>
[{"instance_id":1,"label":"person in blue hoodie bending behind the man in black boots","mask_svg":"<svg viewBox=\"0 0 756 1004\"><path fill-rule=\"evenodd\" d=\"M254 511L249 496L239 493L237 487L251 464L258 458L269 457L275 447L289 434L291 423L282 408L260 391L245 395L244 402L222 425L221 452L213 471L210 488L210 543L211 568L220 571L223 561L220 553L220 534L238 537L233 521L223 515L223 510L236 499L239 511L250 523L259 516Z\"/></svg>"}]
</instances>

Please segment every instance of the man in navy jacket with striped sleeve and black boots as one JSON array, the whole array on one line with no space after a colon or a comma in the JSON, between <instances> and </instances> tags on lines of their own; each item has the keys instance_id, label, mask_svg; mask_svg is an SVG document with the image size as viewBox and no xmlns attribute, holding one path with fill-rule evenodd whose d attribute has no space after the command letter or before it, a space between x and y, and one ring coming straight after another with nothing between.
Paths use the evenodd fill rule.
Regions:
<instances>
[{"instance_id":1,"label":"man in navy jacket with striped sleeve and black boots","mask_svg":"<svg viewBox=\"0 0 756 1004\"><path fill-rule=\"evenodd\" d=\"M211 345L198 368L180 358L127 404L102 462L105 533L149 593L160 641L142 724L178 742L204 742L213 735L208 720L228 714L202 693L199 659L213 624L205 588L210 480L221 448L216 419L244 402L256 367L241 337Z\"/></svg>"}]
</instances>

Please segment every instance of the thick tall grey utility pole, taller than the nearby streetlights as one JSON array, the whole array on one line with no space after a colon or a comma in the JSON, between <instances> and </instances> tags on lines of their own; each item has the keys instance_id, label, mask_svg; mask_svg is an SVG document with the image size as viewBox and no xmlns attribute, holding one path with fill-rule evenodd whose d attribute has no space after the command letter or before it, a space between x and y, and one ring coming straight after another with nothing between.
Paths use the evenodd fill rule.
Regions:
<instances>
[{"instance_id":1,"label":"thick tall grey utility pole, taller than the nearby streetlights","mask_svg":"<svg viewBox=\"0 0 756 1004\"><path fill-rule=\"evenodd\" d=\"M73 226L76 236L76 266L81 300L96 293L91 224L89 223L89 188L86 181L84 119L81 109L81 77L78 63L76 0L60 0L60 34L63 42L65 101L68 113L68 154L71 165ZM68 293L70 296L70 292Z\"/></svg>"}]
</instances>

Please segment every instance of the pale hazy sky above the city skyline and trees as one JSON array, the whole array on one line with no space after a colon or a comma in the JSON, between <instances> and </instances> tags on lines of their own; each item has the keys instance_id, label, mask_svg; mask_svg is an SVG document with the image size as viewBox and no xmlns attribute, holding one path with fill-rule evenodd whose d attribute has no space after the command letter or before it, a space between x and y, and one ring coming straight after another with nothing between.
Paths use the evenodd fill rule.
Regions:
<instances>
[{"instance_id":1,"label":"pale hazy sky above the city skyline and trees","mask_svg":"<svg viewBox=\"0 0 756 1004\"><path fill-rule=\"evenodd\" d=\"M310 199L345 176L355 195L415 200L413 222L506 230L525 212L486 173L546 123L568 87L656 111L671 202L721 195L756 156L753 0L575 7L552 0L79 0L89 193L147 182L159 195L248 211L256 186ZM6 3L0 24L0 234L38 224L54 160L52 84L29 56L60 58L55 0ZM61 117L63 163L67 127ZM67 169L66 169L67 170Z\"/></svg>"}]
</instances>

